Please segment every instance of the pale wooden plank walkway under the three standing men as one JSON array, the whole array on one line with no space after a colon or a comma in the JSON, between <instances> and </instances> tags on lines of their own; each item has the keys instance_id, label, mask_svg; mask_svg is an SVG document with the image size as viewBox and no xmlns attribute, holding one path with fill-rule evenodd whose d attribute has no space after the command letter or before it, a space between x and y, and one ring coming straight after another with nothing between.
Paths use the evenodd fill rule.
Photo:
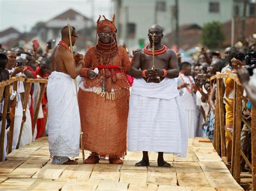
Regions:
<instances>
[{"instance_id":1,"label":"pale wooden plank walkway under the three standing men","mask_svg":"<svg viewBox=\"0 0 256 191\"><path fill-rule=\"evenodd\" d=\"M166 154L171 168L134 167L141 152L128 152L123 165L52 165L47 138L19 148L0 163L0 190L243 190L209 142L189 141L187 158Z\"/></svg>"}]
</instances>

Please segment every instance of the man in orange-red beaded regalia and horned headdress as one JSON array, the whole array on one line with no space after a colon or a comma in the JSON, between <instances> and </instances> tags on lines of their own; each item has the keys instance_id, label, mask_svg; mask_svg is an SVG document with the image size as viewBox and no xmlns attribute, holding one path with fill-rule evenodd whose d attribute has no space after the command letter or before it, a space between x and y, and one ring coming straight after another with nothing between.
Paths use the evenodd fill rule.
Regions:
<instances>
[{"instance_id":1,"label":"man in orange-red beaded regalia and horned headdress","mask_svg":"<svg viewBox=\"0 0 256 191\"><path fill-rule=\"evenodd\" d=\"M105 17L104 17L105 18ZM84 83L78 92L84 149L91 155L84 163L98 163L100 156L112 164L122 164L126 153L126 130L130 85L126 73L130 69L127 52L116 42L113 20L100 17L99 37L89 49L81 71Z\"/></svg>"}]
</instances>

